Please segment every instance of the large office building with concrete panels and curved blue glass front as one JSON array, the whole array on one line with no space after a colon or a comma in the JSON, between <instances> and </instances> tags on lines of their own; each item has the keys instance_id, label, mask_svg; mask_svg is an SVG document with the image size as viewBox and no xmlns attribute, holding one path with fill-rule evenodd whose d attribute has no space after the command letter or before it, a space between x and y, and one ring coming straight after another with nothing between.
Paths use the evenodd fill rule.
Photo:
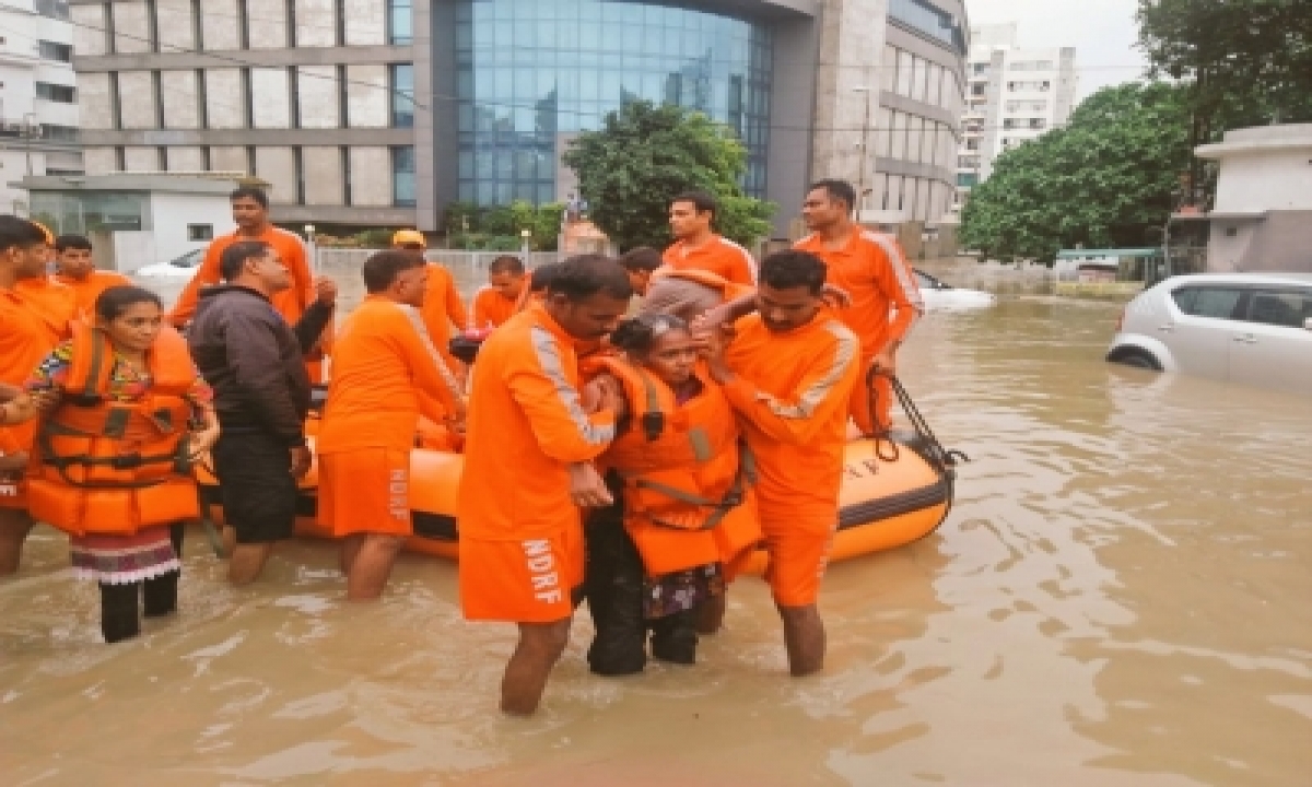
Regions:
<instances>
[{"instance_id":1,"label":"large office building with concrete panels and curved blue glass front","mask_svg":"<svg viewBox=\"0 0 1312 787\"><path fill-rule=\"evenodd\" d=\"M245 171L281 222L563 201L631 97L729 125L779 233L819 177L920 223L955 192L962 0L71 1L88 171Z\"/></svg>"}]
</instances>

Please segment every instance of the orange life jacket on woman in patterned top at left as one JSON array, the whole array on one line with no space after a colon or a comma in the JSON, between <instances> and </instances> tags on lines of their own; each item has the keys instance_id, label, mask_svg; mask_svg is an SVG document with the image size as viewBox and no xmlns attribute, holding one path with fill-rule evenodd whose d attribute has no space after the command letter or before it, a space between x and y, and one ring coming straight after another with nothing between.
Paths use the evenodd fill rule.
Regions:
<instances>
[{"instance_id":1,"label":"orange life jacket on woman in patterned top at left","mask_svg":"<svg viewBox=\"0 0 1312 787\"><path fill-rule=\"evenodd\" d=\"M37 434L31 515L73 535L131 535L199 514L188 462L185 394L195 380L186 340L164 327L147 353L151 388L110 401L114 350L100 331L76 327L59 407Z\"/></svg>"}]
</instances>

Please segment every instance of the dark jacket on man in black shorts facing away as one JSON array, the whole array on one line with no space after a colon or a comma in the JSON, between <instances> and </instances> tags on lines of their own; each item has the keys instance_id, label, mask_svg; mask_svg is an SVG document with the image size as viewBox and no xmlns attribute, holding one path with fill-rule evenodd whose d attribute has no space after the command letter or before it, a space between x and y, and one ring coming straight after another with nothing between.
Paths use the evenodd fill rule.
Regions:
<instances>
[{"instance_id":1,"label":"dark jacket on man in black shorts facing away","mask_svg":"<svg viewBox=\"0 0 1312 787\"><path fill-rule=\"evenodd\" d=\"M289 447L304 443L310 412L310 352L332 319L314 302L295 327L269 299L248 287L222 285L201 291L186 341L192 358L214 388L222 429L260 429Z\"/></svg>"}]
</instances>

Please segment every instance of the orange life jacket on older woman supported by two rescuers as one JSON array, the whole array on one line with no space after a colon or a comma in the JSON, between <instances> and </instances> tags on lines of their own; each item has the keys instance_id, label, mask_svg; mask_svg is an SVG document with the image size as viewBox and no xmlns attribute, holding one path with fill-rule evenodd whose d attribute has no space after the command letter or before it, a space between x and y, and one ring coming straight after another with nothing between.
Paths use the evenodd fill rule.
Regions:
<instances>
[{"instance_id":1,"label":"orange life jacket on older woman supported by two rescuers","mask_svg":"<svg viewBox=\"0 0 1312 787\"><path fill-rule=\"evenodd\" d=\"M585 376L614 375L632 426L601 463L623 479L625 527L651 576L729 561L761 539L750 454L733 409L699 374L701 394L678 405L669 386L614 355L589 358Z\"/></svg>"}]
</instances>

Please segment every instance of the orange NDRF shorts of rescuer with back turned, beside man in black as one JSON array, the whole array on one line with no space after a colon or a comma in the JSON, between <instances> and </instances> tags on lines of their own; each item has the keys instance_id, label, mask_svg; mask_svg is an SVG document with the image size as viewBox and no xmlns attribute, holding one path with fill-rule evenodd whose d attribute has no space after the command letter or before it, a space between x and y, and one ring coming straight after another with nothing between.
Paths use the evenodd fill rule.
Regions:
<instances>
[{"instance_id":1,"label":"orange NDRF shorts of rescuer with back turned, beside man in black","mask_svg":"<svg viewBox=\"0 0 1312 787\"><path fill-rule=\"evenodd\" d=\"M412 535L409 451L321 454L319 523L337 538L356 533Z\"/></svg>"}]
</instances>

